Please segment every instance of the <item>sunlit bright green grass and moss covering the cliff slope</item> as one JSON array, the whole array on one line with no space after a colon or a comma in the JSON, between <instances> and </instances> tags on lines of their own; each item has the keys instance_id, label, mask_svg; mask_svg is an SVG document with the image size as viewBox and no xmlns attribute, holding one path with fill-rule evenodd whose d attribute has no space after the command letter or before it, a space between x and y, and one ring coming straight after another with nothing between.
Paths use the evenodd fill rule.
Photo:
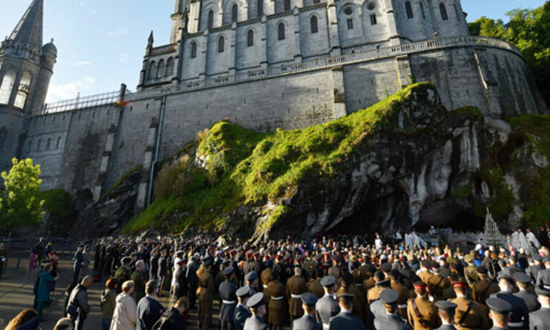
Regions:
<instances>
[{"instance_id":1,"label":"sunlit bright green grass and moss covering the cliff slope","mask_svg":"<svg viewBox=\"0 0 550 330\"><path fill-rule=\"evenodd\" d=\"M216 230L225 223L223 214L239 206L292 196L300 181L338 174L353 153L365 148L370 135L397 120L397 110L413 92L433 88L430 83L411 85L369 109L302 130L258 133L227 121L217 122L197 139L201 143L195 155L190 153L185 162L164 166L161 173L171 173L157 177L162 184L155 182L155 201L123 231L161 225L175 231L190 226ZM391 127L395 129L395 125ZM189 166L195 158L206 169ZM175 187L181 186L175 177L181 177L179 182L189 188ZM190 186L190 182L195 184ZM286 212L289 208L276 207L263 228L271 228Z\"/></svg>"}]
</instances>

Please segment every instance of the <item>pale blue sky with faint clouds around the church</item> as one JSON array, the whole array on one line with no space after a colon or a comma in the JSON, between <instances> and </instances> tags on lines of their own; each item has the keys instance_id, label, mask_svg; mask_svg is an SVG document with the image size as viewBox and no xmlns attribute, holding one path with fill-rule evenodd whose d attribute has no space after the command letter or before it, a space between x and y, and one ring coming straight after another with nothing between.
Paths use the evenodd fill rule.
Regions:
<instances>
[{"instance_id":1,"label":"pale blue sky with faint clouds around the church","mask_svg":"<svg viewBox=\"0 0 550 330\"><path fill-rule=\"evenodd\" d=\"M31 0L1 0L0 36L8 35ZM155 45L168 43L174 0L45 0L44 41L55 38L58 63L47 102L135 90L151 30ZM544 0L462 0L468 20L506 20L514 8L536 8Z\"/></svg>"}]
</instances>

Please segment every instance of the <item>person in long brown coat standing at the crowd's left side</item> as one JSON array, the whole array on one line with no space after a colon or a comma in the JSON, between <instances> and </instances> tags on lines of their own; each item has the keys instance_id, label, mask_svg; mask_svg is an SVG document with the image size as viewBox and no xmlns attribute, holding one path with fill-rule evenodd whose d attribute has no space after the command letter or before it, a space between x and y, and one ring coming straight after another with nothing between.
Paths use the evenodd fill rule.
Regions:
<instances>
[{"instance_id":1,"label":"person in long brown coat standing at the crowd's left side","mask_svg":"<svg viewBox=\"0 0 550 330\"><path fill-rule=\"evenodd\" d=\"M199 278L199 289L197 290L197 298L199 300L199 329L208 330L212 324L212 299L214 296L214 278L210 274L212 267L212 258L206 256L199 270L197 270L197 278Z\"/></svg>"}]
</instances>

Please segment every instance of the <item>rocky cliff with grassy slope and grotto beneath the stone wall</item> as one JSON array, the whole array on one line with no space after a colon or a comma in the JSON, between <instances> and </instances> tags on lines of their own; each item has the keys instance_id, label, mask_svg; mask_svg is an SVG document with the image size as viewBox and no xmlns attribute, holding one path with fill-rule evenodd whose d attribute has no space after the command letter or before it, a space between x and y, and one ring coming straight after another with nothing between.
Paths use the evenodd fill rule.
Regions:
<instances>
[{"instance_id":1,"label":"rocky cliff with grassy slope and grotto beneath the stone wall","mask_svg":"<svg viewBox=\"0 0 550 330\"><path fill-rule=\"evenodd\" d=\"M547 115L502 120L471 107L448 111L429 83L303 130L264 134L219 122L166 159L145 212L126 223L134 178L118 199L107 195L83 212L76 228L100 219L94 228L102 234L255 238L472 229L483 226L486 207L503 227L533 225L550 214L549 135Z\"/></svg>"}]
</instances>

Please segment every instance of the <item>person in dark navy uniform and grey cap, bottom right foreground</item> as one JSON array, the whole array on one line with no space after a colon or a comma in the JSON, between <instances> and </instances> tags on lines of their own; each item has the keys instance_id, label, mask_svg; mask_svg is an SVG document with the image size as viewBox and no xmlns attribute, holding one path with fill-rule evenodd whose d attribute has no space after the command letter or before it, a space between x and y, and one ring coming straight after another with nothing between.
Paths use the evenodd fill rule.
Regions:
<instances>
[{"instance_id":1,"label":"person in dark navy uniform and grey cap, bottom right foreground","mask_svg":"<svg viewBox=\"0 0 550 330\"><path fill-rule=\"evenodd\" d=\"M511 294L514 280L506 274L498 276L497 280L500 292L492 294L489 298L506 300L511 305L510 322L508 323L509 329L527 329L529 327L529 309L527 309L527 305L525 305L525 301L522 298Z\"/></svg>"}]
</instances>

